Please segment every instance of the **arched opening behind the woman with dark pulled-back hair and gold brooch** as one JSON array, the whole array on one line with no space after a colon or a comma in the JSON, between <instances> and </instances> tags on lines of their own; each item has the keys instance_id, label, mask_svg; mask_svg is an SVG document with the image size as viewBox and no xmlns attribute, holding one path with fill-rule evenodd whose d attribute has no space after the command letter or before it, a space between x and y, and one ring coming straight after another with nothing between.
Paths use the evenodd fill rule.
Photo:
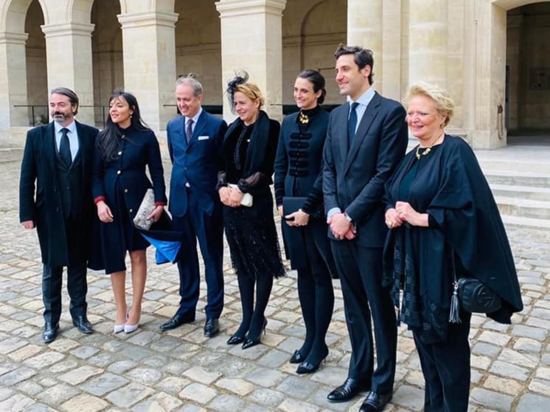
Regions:
<instances>
[{"instance_id":1,"label":"arched opening behind the woman with dark pulled-back hair and gold brooch","mask_svg":"<svg viewBox=\"0 0 550 412\"><path fill-rule=\"evenodd\" d=\"M346 0L292 0L283 14L283 112L295 110L292 93L296 75L315 69L326 79L324 104L345 101L334 81L334 51L345 43Z\"/></svg>"}]
</instances>

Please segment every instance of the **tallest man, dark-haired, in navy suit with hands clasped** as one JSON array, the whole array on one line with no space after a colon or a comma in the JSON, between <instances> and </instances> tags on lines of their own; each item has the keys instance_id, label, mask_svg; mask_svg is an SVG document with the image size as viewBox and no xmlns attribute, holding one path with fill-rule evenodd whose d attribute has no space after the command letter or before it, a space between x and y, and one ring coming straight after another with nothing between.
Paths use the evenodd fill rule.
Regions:
<instances>
[{"instance_id":1,"label":"tallest man, dark-haired, in navy suit with hands clasped","mask_svg":"<svg viewBox=\"0 0 550 412\"><path fill-rule=\"evenodd\" d=\"M381 197L384 183L405 155L408 133L405 109L372 88L372 52L340 45L335 58L336 82L348 102L333 110L329 119L323 194L351 359L348 378L328 399L345 402L370 389L360 412L373 412L383 410L392 398L397 349L395 312L389 288L382 287L387 227Z\"/></svg>"}]
</instances>

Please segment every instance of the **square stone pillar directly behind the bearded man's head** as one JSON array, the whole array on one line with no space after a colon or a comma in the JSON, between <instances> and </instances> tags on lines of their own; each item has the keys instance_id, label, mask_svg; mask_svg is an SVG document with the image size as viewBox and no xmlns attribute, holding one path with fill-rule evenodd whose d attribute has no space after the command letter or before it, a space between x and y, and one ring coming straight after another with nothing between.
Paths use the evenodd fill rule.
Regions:
<instances>
[{"instance_id":1,"label":"square stone pillar directly behind the bearded man's head","mask_svg":"<svg viewBox=\"0 0 550 412\"><path fill-rule=\"evenodd\" d=\"M78 94L80 123L95 125L94 77L92 75L93 24L43 25L46 36L48 89L69 87Z\"/></svg>"}]
</instances>

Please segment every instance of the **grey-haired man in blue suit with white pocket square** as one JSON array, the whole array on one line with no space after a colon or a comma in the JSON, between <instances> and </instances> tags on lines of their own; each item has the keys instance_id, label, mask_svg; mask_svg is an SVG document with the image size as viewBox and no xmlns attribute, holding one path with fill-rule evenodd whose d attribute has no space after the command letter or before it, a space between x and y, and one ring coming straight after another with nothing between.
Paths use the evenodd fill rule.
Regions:
<instances>
[{"instance_id":1,"label":"grey-haired man in blue suit with white pocket square","mask_svg":"<svg viewBox=\"0 0 550 412\"><path fill-rule=\"evenodd\" d=\"M184 237L178 258L179 309L161 329L167 331L195 320L199 240L207 285L204 333L213 337L219 331L223 309L223 219L216 183L223 167L221 147L227 124L202 109L202 94L202 85L193 75L180 77L175 95L182 115L166 127L173 165L168 210L174 230L183 232Z\"/></svg>"}]
</instances>

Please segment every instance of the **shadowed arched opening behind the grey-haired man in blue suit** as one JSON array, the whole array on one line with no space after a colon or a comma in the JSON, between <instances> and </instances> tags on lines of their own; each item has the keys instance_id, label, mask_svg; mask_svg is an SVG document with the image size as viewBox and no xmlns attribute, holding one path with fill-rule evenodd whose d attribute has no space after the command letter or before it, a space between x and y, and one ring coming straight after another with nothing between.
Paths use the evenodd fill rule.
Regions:
<instances>
[{"instance_id":1,"label":"shadowed arched opening behind the grey-haired man in blue suit","mask_svg":"<svg viewBox=\"0 0 550 412\"><path fill-rule=\"evenodd\" d=\"M221 25L214 1L178 0L175 13L176 75L198 75L204 87L203 107L222 114ZM175 84L175 79L174 79ZM177 113L174 98L174 114Z\"/></svg>"}]
</instances>

